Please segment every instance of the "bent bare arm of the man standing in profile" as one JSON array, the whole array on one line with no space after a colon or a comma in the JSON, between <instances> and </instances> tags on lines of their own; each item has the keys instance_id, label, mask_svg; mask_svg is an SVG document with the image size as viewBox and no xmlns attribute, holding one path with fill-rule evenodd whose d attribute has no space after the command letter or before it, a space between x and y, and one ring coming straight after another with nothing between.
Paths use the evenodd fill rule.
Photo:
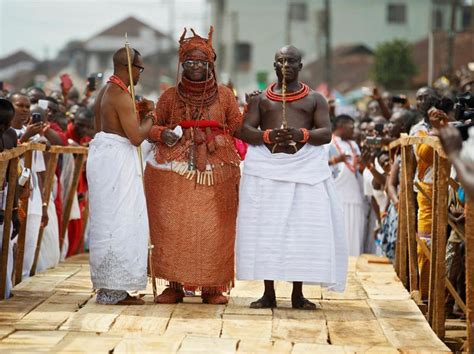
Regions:
<instances>
[{"instance_id":1,"label":"bent bare arm of the man standing in profile","mask_svg":"<svg viewBox=\"0 0 474 354\"><path fill-rule=\"evenodd\" d=\"M116 95L116 112L122 125L122 129L125 132L128 140L135 145L139 146L143 140L148 137L153 120L145 119L140 125L137 120L137 115L133 108L133 101L126 92L121 92Z\"/></svg>"}]
</instances>

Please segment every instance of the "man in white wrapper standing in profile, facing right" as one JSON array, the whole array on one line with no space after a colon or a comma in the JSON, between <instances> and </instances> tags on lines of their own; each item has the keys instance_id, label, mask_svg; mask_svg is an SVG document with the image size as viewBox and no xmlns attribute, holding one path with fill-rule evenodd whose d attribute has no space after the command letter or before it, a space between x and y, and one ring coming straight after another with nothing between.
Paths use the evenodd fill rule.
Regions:
<instances>
[{"instance_id":1,"label":"man in white wrapper standing in profile, facing right","mask_svg":"<svg viewBox=\"0 0 474 354\"><path fill-rule=\"evenodd\" d=\"M143 62L135 49L130 56L133 83L126 49L114 54L114 75L96 100L97 133L87 158L91 278L100 304L142 305L128 291L144 290L147 283L148 215L136 147L154 117L141 115L140 124L134 113L128 86L137 84ZM153 111L151 101L146 105Z\"/></svg>"}]
</instances>

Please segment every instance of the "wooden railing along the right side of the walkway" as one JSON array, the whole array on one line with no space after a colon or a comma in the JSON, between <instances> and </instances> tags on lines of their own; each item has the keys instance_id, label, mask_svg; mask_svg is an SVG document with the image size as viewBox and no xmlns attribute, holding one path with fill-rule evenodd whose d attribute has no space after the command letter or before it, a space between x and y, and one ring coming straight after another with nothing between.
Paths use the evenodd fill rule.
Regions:
<instances>
[{"instance_id":1,"label":"wooden railing along the right side of the walkway","mask_svg":"<svg viewBox=\"0 0 474 354\"><path fill-rule=\"evenodd\" d=\"M432 197L415 182L416 158L414 149L419 144L433 148ZM415 300L420 300L420 283L417 245L430 260L430 279L427 318L435 333L445 336L445 299L448 291L467 318L466 350L474 352L474 200L465 203L466 223L464 232L448 218L448 187L455 186L450 179L451 165L436 137L411 137L402 135L389 146L391 156L401 156L401 179L398 210L398 237L395 255L395 270ZM416 203L414 187L431 200L432 228L431 247L422 242L416 233ZM466 302L457 293L446 276L447 227L450 225L465 242Z\"/></svg>"}]
</instances>

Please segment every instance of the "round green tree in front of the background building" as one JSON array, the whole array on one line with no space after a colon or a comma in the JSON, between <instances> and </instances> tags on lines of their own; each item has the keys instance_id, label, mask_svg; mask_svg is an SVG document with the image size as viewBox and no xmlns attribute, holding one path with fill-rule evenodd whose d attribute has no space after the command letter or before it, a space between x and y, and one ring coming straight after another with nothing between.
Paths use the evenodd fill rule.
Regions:
<instances>
[{"instance_id":1,"label":"round green tree in front of the background building","mask_svg":"<svg viewBox=\"0 0 474 354\"><path fill-rule=\"evenodd\" d=\"M375 48L371 76L378 85L387 89L406 88L416 73L417 68L407 41L395 39L383 42Z\"/></svg>"}]
</instances>

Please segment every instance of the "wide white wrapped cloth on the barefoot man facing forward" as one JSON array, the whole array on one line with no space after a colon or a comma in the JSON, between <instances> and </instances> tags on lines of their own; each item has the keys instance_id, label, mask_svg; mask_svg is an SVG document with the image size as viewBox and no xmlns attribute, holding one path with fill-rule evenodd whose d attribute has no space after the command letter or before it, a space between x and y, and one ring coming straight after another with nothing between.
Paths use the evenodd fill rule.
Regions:
<instances>
[{"instance_id":1,"label":"wide white wrapped cloth on the barefoot man facing forward","mask_svg":"<svg viewBox=\"0 0 474 354\"><path fill-rule=\"evenodd\" d=\"M249 146L236 253L240 280L302 281L344 290L347 237L324 147L306 144L291 155Z\"/></svg>"}]
</instances>

